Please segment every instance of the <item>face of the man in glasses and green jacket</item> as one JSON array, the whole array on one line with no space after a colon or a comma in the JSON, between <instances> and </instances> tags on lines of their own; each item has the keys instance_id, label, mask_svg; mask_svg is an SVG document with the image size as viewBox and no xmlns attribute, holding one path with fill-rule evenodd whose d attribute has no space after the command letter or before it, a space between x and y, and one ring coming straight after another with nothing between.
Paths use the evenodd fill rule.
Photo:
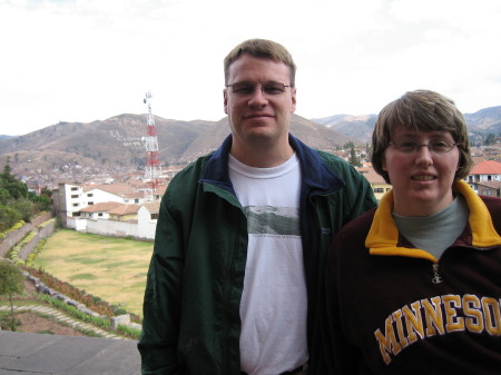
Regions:
<instances>
[{"instance_id":1,"label":"face of the man in glasses and green jacket","mask_svg":"<svg viewBox=\"0 0 501 375\"><path fill-rule=\"evenodd\" d=\"M288 87L289 68L244 53L230 65L227 83L237 83L224 90L234 146L274 145L284 139L288 145L291 115L296 109L296 89Z\"/></svg>"}]
</instances>

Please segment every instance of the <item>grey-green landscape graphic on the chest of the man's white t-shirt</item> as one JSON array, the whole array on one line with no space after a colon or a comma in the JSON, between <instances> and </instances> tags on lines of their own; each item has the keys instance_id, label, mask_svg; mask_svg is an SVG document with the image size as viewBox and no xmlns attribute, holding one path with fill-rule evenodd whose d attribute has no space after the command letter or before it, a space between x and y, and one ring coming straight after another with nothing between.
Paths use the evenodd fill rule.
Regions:
<instances>
[{"instance_id":1,"label":"grey-green landscape graphic on the chest of the man's white t-shirt","mask_svg":"<svg viewBox=\"0 0 501 375\"><path fill-rule=\"evenodd\" d=\"M244 213L249 235L301 236L297 208L247 206Z\"/></svg>"}]
</instances>

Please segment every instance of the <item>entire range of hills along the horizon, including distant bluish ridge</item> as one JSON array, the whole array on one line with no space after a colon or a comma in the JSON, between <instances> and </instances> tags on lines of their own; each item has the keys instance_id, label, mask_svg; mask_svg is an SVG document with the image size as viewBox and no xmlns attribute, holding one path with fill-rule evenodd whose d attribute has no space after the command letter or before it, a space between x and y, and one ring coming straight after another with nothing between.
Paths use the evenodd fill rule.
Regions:
<instances>
[{"instance_id":1,"label":"entire range of hills along the horizon, including distant bluish ridge","mask_svg":"<svg viewBox=\"0 0 501 375\"><path fill-rule=\"evenodd\" d=\"M472 144L501 134L501 106L465 114ZM335 115L313 120L293 115L291 131L311 147L333 150L348 141L371 141L376 115ZM165 165L187 162L214 150L229 134L227 117L219 121L179 121L155 117L159 160ZM141 170L146 162L143 137L146 115L119 115L102 121L59 122L20 137L0 137L0 158L10 158L18 176L38 175L40 184L78 169L87 176ZM41 178L43 176L43 178ZM47 178L48 176L48 178ZM33 180L33 179L32 179Z\"/></svg>"}]
</instances>

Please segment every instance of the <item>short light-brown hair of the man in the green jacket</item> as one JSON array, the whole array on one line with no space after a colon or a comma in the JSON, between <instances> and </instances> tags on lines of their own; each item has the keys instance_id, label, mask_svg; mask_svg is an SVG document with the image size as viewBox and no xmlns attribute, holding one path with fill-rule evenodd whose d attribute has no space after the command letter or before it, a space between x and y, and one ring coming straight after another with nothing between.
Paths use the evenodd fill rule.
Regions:
<instances>
[{"instance_id":1,"label":"short light-brown hair of the man in the green jacket","mask_svg":"<svg viewBox=\"0 0 501 375\"><path fill-rule=\"evenodd\" d=\"M236 46L225 58L225 85L228 85L229 66L235 62L243 53L248 53L254 57L271 59L278 62L284 62L291 69L291 86L295 86L296 81L296 65L291 53L284 46L266 39L249 39Z\"/></svg>"}]
</instances>

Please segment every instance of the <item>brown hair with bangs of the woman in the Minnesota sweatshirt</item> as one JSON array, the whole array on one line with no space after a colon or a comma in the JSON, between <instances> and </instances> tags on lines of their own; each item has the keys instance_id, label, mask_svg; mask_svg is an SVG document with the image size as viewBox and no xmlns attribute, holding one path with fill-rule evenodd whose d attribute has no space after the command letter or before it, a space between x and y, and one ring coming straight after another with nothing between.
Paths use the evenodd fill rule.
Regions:
<instances>
[{"instance_id":1,"label":"brown hair with bangs of the woman in the Minnesota sweatshirt","mask_svg":"<svg viewBox=\"0 0 501 375\"><path fill-rule=\"evenodd\" d=\"M405 92L400 99L386 105L377 116L372 134L372 166L391 184L389 174L383 170L384 152L392 141L397 126L409 130L449 131L460 150L460 165L455 179L465 178L472 166L466 122L454 102L430 90Z\"/></svg>"}]
</instances>

